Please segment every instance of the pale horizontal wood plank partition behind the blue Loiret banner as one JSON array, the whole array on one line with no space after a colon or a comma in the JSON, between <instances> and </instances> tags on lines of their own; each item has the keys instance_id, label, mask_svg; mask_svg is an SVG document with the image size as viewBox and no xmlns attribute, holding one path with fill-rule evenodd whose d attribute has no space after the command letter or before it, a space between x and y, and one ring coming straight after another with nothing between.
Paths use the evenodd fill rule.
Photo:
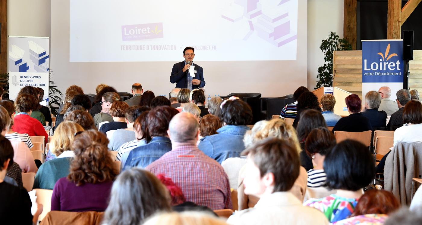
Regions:
<instances>
[{"instance_id":1,"label":"pale horizontal wood plank partition behind the blue Loiret banner","mask_svg":"<svg viewBox=\"0 0 422 225\"><path fill-rule=\"evenodd\" d=\"M409 62L410 89L422 93L422 50L413 51ZM362 51L334 51L333 86L362 97Z\"/></svg>"}]
</instances>

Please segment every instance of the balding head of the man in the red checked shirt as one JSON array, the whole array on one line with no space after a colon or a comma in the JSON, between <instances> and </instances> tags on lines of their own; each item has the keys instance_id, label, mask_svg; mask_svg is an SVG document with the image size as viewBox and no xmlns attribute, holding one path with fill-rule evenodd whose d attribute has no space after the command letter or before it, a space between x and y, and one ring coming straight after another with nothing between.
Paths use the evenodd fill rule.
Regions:
<instances>
[{"instance_id":1,"label":"balding head of the man in the red checked shirt","mask_svg":"<svg viewBox=\"0 0 422 225\"><path fill-rule=\"evenodd\" d=\"M172 142L196 141L198 128L198 121L189 112L180 112L176 114L168 125Z\"/></svg>"}]
</instances>

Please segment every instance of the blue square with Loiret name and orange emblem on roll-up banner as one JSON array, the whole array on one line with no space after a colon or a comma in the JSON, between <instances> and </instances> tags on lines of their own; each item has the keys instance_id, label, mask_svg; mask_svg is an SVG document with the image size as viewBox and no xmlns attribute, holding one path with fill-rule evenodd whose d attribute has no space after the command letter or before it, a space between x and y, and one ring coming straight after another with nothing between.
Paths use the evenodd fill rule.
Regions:
<instances>
[{"instance_id":1,"label":"blue square with Loiret name and orange emblem on roll-up banner","mask_svg":"<svg viewBox=\"0 0 422 225\"><path fill-rule=\"evenodd\" d=\"M401 41L362 42L362 82L403 82L401 48Z\"/></svg>"}]
</instances>

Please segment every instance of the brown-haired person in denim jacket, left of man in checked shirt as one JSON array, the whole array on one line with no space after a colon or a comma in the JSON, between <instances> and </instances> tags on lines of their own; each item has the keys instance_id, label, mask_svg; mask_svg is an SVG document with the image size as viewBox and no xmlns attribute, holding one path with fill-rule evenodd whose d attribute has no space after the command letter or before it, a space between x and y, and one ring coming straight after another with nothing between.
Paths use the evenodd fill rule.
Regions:
<instances>
[{"instance_id":1,"label":"brown-haired person in denim jacket, left of man in checked shirt","mask_svg":"<svg viewBox=\"0 0 422 225\"><path fill-rule=\"evenodd\" d=\"M145 168L171 150L171 141L167 130L170 120L177 113L177 110L168 106L155 107L149 111L147 129L151 139L146 139L146 145L136 147L130 151L123 169L129 169L134 166Z\"/></svg>"}]
</instances>

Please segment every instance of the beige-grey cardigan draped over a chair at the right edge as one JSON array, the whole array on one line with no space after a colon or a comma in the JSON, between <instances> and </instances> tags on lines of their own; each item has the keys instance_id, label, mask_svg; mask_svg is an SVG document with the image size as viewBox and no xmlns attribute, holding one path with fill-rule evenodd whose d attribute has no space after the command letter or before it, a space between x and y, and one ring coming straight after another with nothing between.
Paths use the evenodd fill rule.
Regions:
<instances>
[{"instance_id":1,"label":"beige-grey cardigan draped over a chair at the right edge","mask_svg":"<svg viewBox=\"0 0 422 225\"><path fill-rule=\"evenodd\" d=\"M412 178L422 176L422 143L398 142L384 167L384 189L392 191L402 206L410 205Z\"/></svg>"}]
</instances>

